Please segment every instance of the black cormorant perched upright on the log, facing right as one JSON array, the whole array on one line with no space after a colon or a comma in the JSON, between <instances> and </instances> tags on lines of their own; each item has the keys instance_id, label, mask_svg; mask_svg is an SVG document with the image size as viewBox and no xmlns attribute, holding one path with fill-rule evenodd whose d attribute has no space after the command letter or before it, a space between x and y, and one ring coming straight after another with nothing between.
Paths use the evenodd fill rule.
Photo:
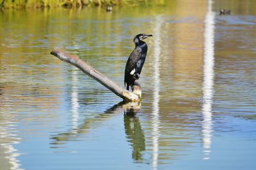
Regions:
<instances>
[{"instance_id":1,"label":"black cormorant perched upright on the log, facing right","mask_svg":"<svg viewBox=\"0 0 256 170\"><path fill-rule=\"evenodd\" d=\"M129 86L133 86L134 81L140 78L140 73L148 50L147 43L143 42L142 40L148 38L148 36L152 35L140 34L136 35L133 39L135 49L132 51L127 60L124 74L124 86L126 85L127 90L129 90Z\"/></svg>"}]
</instances>

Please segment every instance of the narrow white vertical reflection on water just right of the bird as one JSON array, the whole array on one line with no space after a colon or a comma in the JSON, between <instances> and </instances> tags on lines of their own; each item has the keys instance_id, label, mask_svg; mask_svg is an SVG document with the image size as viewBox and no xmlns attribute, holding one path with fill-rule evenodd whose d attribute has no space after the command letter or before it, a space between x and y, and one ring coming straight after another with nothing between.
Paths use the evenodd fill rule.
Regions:
<instances>
[{"instance_id":1,"label":"narrow white vertical reflection on water just right of the bird","mask_svg":"<svg viewBox=\"0 0 256 170\"><path fill-rule=\"evenodd\" d=\"M160 73L159 73L159 58L160 58L160 40L161 40L161 24L162 19L161 16L156 17L156 22L154 25L154 102L153 102L153 153L152 153L152 169L157 169L158 164L158 153L159 153L159 87L160 87Z\"/></svg>"}]
</instances>

